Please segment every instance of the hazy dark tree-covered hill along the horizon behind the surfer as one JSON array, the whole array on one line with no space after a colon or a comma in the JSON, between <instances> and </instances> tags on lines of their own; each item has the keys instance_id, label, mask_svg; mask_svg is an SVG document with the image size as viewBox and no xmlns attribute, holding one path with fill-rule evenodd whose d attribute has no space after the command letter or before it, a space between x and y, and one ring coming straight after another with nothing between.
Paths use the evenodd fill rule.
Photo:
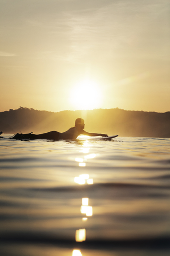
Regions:
<instances>
[{"instance_id":1,"label":"hazy dark tree-covered hill along the horizon behind the surfer","mask_svg":"<svg viewBox=\"0 0 170 256\"><path fill-rule=\"evenodd\" d=\"M63 132L81 117L88 132L130 137L170 138L170 112L156 113L123 109L40 111L23 108L0 113L0 130L4 133Z\"/></svg>"}]
</instances>

